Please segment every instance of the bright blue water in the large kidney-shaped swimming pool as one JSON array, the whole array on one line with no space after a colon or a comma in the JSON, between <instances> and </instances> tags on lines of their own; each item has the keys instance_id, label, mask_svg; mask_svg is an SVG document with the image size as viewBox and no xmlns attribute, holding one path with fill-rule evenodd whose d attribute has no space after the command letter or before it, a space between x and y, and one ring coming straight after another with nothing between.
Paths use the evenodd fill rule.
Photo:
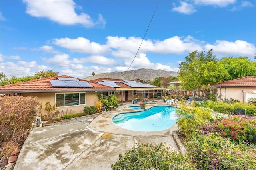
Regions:
<instances>
[{"instance_id":1,"label":"bright blue water in the large kidney-shaped swimming pool","mask_svg":"<svg viewBox=\"0 0 256 170\"><path fill-rule=\"evenodd\" d=\"M112 121L119 127L133 131L162 131L176 123L176 107L154 106L148 110L116 115Z\"/></svg>"}]
</instances>

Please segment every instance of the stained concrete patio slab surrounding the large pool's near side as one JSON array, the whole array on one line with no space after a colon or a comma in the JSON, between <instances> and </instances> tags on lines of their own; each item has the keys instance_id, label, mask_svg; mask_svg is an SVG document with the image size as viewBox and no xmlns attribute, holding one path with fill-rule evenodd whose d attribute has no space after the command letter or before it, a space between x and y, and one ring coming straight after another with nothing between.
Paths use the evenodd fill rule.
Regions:
<instances>
[{"instance_id":1,"label":"stained concrete patio slab surrounding the large pool's near side","mask_svg":"<svg viewBox=\"0 0 256 170\"><path fill-rule=\"evenodd\" d=\"M128 131L114 125L109 113L102 113L90 124L34 128L14 170L109 170L119 154L136 144L162 142L170 151L178 150L170 133L175 129L174 125L159 132Z\"/></svg>"}]
</instances>

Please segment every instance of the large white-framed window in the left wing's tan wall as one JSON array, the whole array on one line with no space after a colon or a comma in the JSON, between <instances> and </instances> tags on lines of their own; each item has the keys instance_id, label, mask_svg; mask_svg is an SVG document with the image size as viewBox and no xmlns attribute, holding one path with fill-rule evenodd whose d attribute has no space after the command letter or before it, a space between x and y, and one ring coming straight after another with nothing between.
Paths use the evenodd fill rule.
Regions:
<instances>
[{"instance_id":1,"label":"large white-framed window in the left wing's tan wall","mask_svg":"<svg viewBox=\"0 0 256 170\"><path fill-rule=\"evenodd\" d=\"M58 93L56 94L56 102L60 102L60 106L75 106L86 104L86 93Z\"/></svg>"}]
</instances>

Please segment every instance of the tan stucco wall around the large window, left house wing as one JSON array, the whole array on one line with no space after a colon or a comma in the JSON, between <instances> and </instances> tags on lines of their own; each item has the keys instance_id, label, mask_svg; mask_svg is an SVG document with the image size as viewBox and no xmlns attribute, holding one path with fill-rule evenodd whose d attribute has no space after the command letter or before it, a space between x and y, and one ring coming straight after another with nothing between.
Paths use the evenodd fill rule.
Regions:
<instances>
[{"instance_id":1,"label":"tan stucco wall around the large window, left house wing","mask_svg":"<svg viewBox=\"0 0 256 170\"><path fill-rule=\"evenodd\" d=\"M75 93L75 92L74 92ZM47 112L44 110L46 102L50 102L51 105L55 103L55 93L22 93L23 96L37 96L38 101L42 103L42 115ZM84 111L84 106L95 106L95 101L98 101L98 96L95 92L86 92L86 104L84 105L74 105L66 107L58 107L56 110L60 111L60 115L69 113L80 113ZM40 116L40 115L38 115Z\"/></svg>"}]
</instances>

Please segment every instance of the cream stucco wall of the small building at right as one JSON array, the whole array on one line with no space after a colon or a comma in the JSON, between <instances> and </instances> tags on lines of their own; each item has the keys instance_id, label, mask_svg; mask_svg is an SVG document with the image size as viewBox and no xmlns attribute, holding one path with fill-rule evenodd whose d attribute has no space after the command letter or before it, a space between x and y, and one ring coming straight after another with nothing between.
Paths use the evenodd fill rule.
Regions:
<instances>
[{"instance_id":1,"label":"cream stucco wall of the small building at right","mask_svg":"<svg viewBox=\"0 0 256 170\"><path fill-rule=\"evenodd\" d=\"M244 102L242 90L256 90L256 88L218 88L218 100L232 98Z\"/></svg>"}]
</instances>

